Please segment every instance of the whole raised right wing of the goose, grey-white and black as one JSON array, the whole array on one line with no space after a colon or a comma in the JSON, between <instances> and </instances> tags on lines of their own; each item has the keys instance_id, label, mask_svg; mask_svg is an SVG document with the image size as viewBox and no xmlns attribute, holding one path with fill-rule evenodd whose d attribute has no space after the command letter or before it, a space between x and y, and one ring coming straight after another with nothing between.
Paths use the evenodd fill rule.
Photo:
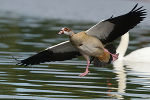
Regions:
<instances>
[{"instance_id":1,"label":"whole raised right wing of the goose, grey-white and black","mask_svg":"<svg viewBox=\"0 0 150 100\"><path fill-rule=\"evenodd\" d=\"M137 8L138 4L127 14L109 18L99 22L86 31L87 34L96 36L104 44L112 42L116 38L128 32L130 29L140 23L146 15L142 7Z\"/></svg>"}]
</instances>

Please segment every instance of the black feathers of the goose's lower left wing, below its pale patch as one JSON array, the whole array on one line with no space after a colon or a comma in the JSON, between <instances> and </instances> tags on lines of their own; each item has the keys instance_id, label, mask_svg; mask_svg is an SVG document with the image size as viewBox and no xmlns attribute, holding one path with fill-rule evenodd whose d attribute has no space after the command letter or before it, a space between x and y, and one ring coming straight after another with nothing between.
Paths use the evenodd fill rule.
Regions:
<instances>
[{"instance_id":1,"label":"black feathers of the goose's lower left wing, below its pale patch","mask_svg":"<svg viewBox=\"0 0 150 100\"><path fill-rule=\"evenodd\" d=\"M69 60L80 56L79 52L67 52L67 53L54 53L51 50L44 50L41 51L27 59L21 60L17 65L20 66L28 66L28 65L36 65L44 62L51 62L51 61L63 61Z\"/></svg>"}]
</instances>

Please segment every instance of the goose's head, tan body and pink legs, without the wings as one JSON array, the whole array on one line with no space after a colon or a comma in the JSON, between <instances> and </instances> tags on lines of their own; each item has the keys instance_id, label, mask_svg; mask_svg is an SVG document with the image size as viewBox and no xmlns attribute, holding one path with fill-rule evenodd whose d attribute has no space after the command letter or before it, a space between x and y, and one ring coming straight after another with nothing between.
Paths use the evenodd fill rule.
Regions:
<instances>
[{"instance_id":1,"label":"goose's head, tan body and pink legs, without the wings","mask_svg":"<svg viewBox=\"0 0 150 100\"><path fill-rule=\"evenodd\" d=\"M58 34L68 35L70 37L71 44L77 48L82 56L86 59L86 70L80 76L85 76L89 73L88 67L90 65L90 56L96 57L103 62L109 62L110 55L112 55L113 61L118 58L118 54L112 54L105 49L97 37L88 35L84 31L75 34L69 28L62 28Z\"/></svg>"}]
</instances>

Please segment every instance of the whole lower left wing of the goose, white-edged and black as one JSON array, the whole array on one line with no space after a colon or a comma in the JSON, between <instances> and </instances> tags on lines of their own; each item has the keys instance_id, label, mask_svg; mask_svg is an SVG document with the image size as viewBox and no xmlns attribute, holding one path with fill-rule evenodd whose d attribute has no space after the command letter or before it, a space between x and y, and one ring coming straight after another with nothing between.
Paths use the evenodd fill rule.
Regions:
<instances>
[{"instance_id":1,"label":"whole lower left wing of the goose, white-edged and black","mask_svg":"<svg viewBox=\"0 0 150 100\"><path fill-rule=\"evenodd\" d=\"M80 56L80 53L72 46L69 41L51 46L27 59L21 60L18 65L35 65L50 61L69 60Z\"/></svg>"}]
</instances>

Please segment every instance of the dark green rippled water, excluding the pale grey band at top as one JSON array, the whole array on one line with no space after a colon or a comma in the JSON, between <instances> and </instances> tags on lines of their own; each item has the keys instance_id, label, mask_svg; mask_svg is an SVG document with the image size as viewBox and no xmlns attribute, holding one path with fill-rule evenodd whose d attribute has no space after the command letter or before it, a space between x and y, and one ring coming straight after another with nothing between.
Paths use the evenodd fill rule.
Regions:
<instances>
[{"instance_id":1,"label":"dark green rippled water, excluding the pale grey band at top","mask_svg":"<svg viewBox=\"0 0 150 100\"><path fill-rule=\"evenodd\" d=\"M150 99L150 73L145 75L126 66L91 65L90 74L79 77L86 66L82 58L27 67L15 65L12 56L24 59L67 40L57 35L62 27L78 32L92 25L57 19L0 17L0 99ZM138 26L130 34L128 53L150 46L148 26Z\"/></svg>"}]
</instances>

